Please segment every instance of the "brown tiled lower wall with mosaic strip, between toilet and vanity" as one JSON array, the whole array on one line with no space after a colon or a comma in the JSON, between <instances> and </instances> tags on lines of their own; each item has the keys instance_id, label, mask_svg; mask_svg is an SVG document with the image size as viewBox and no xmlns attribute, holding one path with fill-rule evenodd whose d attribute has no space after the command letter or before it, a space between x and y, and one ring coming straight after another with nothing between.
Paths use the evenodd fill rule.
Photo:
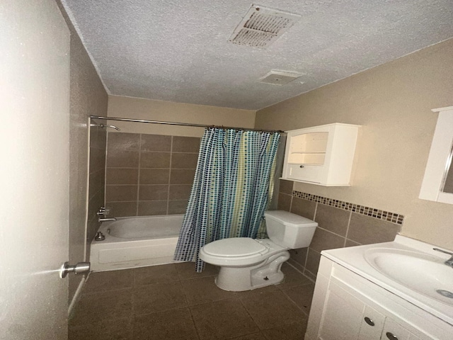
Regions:
<instances>
[{"instance_id":1,"label":"brown tiled lower wall with mosaic strip, between toilet and vanity","mask_svg":"<svg viewBox=\"0 0 453 340\"><path fill-rule=\"evenodd\" d=\"M318 222L310 246L289 251L289 262L312 279L321 251L393 241L403 224L396 213L293 191L293 184L280 180L277 208Z\"/></svg>"}]
</instances>

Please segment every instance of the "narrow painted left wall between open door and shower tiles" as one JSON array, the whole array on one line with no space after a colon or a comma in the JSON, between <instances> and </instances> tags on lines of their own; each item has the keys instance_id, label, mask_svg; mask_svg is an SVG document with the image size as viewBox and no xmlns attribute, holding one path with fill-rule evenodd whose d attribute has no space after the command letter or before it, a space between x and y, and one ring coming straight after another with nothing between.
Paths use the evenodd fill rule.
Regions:
<instances>
[{"instance_id":1,"label":"narrow painted left wall between open door and shower tiles","mask_svg":"<svg viewBox=\"0 0 453 340\"><path fill-rule=\"evenodd\" d=\"M70 121L69 121L69 262L75 264L85 261L89 252L92 234L86 234L87 219L87 181L88 181L88 117L89 115L106 115L107 93L98 77L96 69L84 45L77 35L74 26L59 1L57 1L71 31L70 48ZM105 134L105 132L104 132ZM104 139L105 150L105 139ZM105 151L104 151L105 152ZM103 164L105 169L105 164ZM90 200L96 208L103 204L104 172L101 179L95 178L102 187L98 201ZM93 186L93 180L90 181ZM93 194L91 194L93 196ZM96 209L90 209L88 220L96 218ZM96 221L97 222L97 221ZM86 259L88 261L88 259ZM69 301L74 297L83 276L69 275Z\"/></svg>"}]
</instances>

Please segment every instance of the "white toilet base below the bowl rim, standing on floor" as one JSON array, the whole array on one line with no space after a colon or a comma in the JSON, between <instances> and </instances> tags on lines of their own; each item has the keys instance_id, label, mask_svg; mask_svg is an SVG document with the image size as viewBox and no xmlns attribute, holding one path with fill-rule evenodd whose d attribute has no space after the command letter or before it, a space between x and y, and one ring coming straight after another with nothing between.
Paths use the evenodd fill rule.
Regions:
<instances>
[{"instance_id":1,"label":"white toilet base below the bowl rim, standing on floor","mask_svg":"<svg viewBox=\"0 0 453 340\"><path fill-rule=\"evenodd\" d=\"M289 259L288 251L270 256L262 263L251 267L221 266L219 275L215 278L217 287L231 292L242 292L277 285L285 278L282 273L282 263Z\"/></svg>"}]
</instances>

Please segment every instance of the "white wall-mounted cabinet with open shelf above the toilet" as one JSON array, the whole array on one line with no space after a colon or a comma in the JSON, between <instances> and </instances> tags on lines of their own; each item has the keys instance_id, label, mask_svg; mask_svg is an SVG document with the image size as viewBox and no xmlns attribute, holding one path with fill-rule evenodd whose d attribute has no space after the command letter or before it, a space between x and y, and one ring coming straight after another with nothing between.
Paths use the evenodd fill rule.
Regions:
<instances>
[{"instance_id":1,"label":"white wall-mounted cabinet with open shelf above the toilet","mask_svg":"<svg viewBox=\"0 0 453 340\"><path fill-rule=\"evenodd\" d=\"M282 179L349 186L359 128L333 123L287 131Z\"/></svg>"}]
</instances>

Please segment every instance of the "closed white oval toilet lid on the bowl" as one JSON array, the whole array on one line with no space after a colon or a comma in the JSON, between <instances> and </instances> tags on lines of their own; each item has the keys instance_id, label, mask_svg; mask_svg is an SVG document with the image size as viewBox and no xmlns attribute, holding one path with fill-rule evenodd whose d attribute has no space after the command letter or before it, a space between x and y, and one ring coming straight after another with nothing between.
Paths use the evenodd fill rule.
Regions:
<instances>
[{"instance_id":1,"label":"closed white oval toilet lid on the bowl","mask_svg":"<svg viewBox=\"0 0 453 340\"><path fill-rule=\"evenodd\" d=\"M203 248L206 254L219 257L243 257L255 254L264 254L268 248L249 237L234 237L231 239L219 239L211 242Z\"/></svg>"}]
</instances>

